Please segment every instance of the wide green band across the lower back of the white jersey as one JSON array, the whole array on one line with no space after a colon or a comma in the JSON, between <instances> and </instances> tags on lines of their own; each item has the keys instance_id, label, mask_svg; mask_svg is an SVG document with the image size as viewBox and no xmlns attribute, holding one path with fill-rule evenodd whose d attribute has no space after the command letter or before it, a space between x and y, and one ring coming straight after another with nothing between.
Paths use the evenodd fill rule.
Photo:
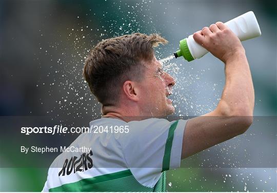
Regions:
<instances>
[{"instance_id":1,"label":"wide green band across the lower back of the white jersey","mask_svg":"<svg viewBox=\"0 0 277 193\"><path fill-rule=\"evenodd\" d=\"M165 191L166 173L163 172L153 188L143 186L133 177L129 169L102 176L64 184L49 191Z\"/></svg>"}]
</instances>

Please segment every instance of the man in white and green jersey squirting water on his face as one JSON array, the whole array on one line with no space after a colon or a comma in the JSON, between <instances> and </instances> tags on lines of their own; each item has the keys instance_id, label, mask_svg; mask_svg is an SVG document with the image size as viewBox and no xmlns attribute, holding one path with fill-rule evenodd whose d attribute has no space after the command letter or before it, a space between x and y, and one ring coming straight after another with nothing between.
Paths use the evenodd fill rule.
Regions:
<instances>
[{"instance_id":1,"label":"man in white and green jersey squirting water on his face","mask_svg":"<svg viewBox=\"0 0 277 193\"><path fill-rule=\"evenodd\" d=\"M83 133L71 144L92 150L58 156L44 191L165 191L166 170L248 129L254 90L239 38L221 22L193 38L225 64L217 107L188 121L153 118L174 112L167 97L175 81L152 49L167 41L140 33L104 40L91 50L84 67L103 117L90 122L93 133Z\"/></svg>"}]
</instances>

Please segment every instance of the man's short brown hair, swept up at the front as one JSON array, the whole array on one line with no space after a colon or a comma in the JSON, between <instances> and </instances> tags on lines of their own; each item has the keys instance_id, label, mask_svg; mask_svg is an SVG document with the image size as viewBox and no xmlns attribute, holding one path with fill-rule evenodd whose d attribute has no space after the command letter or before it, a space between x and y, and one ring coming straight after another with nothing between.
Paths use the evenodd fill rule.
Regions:
<instances>
[{"instance_id":1,"label":"man's short brown hair, swept up at the front","mask_svg":"<svg viewBox=\"0 0 277 193\"><path fill-rule=\"evenodd\" d=\"M127 80L139 81L142 62L151 61L153 47L166 44L159 34L133 33L98 43L86 58L83 75L91 92L103 105L115 105Z\"/></svg>"}]
</instances>

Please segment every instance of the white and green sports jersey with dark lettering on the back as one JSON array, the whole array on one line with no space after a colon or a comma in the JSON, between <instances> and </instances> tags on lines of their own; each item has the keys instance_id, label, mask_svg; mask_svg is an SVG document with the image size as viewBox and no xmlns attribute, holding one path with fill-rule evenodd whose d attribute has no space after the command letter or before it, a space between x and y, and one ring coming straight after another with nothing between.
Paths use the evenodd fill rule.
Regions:
<instances>
[{"instance_id":1,"label":"white and green sports jersey with dark lettering on the back","mask_svg":"<svg viewBox=\"0 0 277 193\"><path fill-rule=\"evenodd\" d=\"M81 134L69 146L74 148L68 148L86 151L58 156L43 191L166 191L166 170L180 167L186 122L92 121L91 132Z\"/></svg>"}]
</instances>

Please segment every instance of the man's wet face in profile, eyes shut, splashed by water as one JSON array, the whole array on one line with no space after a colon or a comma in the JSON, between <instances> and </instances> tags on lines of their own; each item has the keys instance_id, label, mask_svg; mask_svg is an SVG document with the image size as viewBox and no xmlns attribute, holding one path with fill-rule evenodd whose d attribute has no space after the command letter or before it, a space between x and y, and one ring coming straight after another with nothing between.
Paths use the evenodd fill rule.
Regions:
<instances>
[{"instance_id":1,"label":"man's wet face in profile, eyes shut, splashed by water","mask_svg":"<svg viewBox=\"0 0 277 193\"><path fill-rule=\"evenodd\" d=\"M152 116L165 116L174 113L172 94L174 79L163 70L162 64L154 56L145 64L144 79L141 81L140 102L143 112Z\"/></svg>"}]
</instances>

